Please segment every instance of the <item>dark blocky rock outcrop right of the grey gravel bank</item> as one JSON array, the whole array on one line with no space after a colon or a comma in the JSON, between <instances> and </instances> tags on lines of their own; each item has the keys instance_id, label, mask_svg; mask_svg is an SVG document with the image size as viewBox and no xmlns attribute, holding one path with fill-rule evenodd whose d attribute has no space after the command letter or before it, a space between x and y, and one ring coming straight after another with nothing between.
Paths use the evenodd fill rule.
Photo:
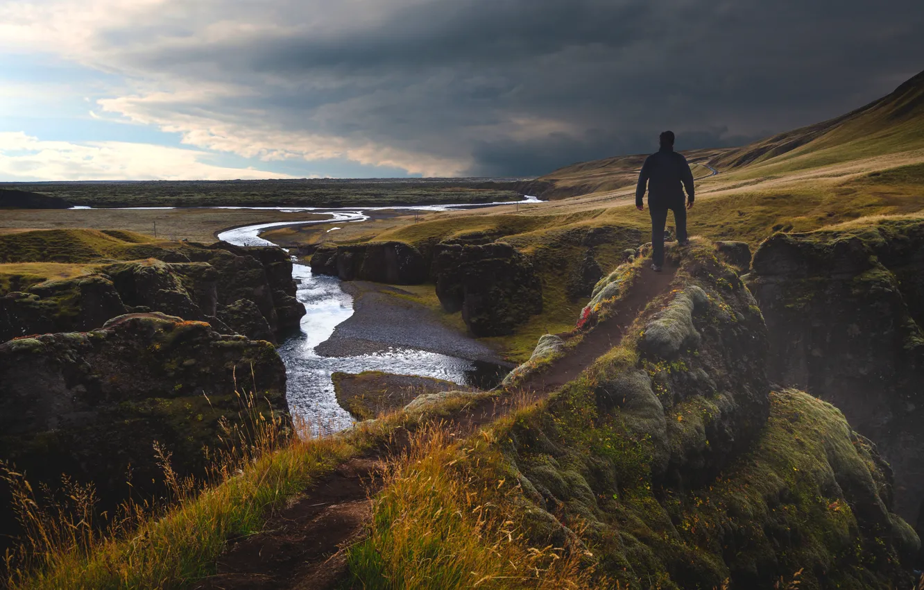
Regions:
<instances>
[{"instance_id":1,"label":"dark blocky rock outcrop right of the grey gravel bank","mask_svg":"<svg viewBox=\"0 0 924 590\"><path fill-rule=\"evenodd\" d=\"M444 310L461 310L475 336L510 334L542 311L541 280L529 259L509 244L440 244L433 268Z\"/></svg>"}]
</instances>

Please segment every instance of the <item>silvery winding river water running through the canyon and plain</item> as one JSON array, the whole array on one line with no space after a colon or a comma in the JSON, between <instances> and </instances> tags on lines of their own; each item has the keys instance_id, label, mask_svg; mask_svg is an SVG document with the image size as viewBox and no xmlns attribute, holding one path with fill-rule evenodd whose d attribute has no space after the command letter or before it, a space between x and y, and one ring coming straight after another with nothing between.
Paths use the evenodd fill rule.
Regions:
<instances>
[{"instance_id":1,"label":"silvery winding river water running through the canyon and plain","mask_svg":"<svg viewBox=\"0 0 924 590\"><path fill-rule=\"evenodd\" d=\"M524 203L536 203L527 197ZM490 203L501 204L501 203ZM510 204L510 203L504 203ZM260 207L286 212L310 212L330 215L320 221L287 221L229 229L218 235L219 240L239 246L275 245L260 237L271 227L303 226L318 223L362 223L369 219L365 212L380 210L446 211L472 205L423 205L415 207L369 207L364 209L320 209L298 207ZM486 206L480 204L476 206ZM223 207L225 208L225 207ZM226 207L232 208L232 207ZM246 207L233 207L246 208ZM492 387L505 370L491 363L480 363L438 354L427 350L390 348L375 354L329 357L315 352L315 347L334 334L334 329L353 314L353 298L340 288L340 279L315 275L305 264L293 264L292 275L298 283L296 297L307 312L301 319L298 335L286 339L278 348L286 363L286 397L289 411L304 418L312 428L335 432L353 423L352 417L337 404L331 375L335 372L359 373L384 371L398 375L436 377L459 385Z\"/></svg>"}]
</instances>

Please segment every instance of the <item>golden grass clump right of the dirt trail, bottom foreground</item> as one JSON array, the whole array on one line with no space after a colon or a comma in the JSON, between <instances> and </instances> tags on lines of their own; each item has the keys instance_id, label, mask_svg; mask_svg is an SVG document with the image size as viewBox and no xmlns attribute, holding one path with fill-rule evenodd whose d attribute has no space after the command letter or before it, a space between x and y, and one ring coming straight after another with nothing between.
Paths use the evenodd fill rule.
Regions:
<instances>
[{"instance_id":1,"label":"golden grass clump right of the dirt trail, bottom foreground","mask_svg":"<svg viewBox=\"0 0 924 590\"><path fill-rule=\"evenodd\" d=\"M577 545L529 547L520 517L504 504L516 482L482 480L465 468L490 438L484 432L456 443L442 424L412 437L407 454L387 465L369 535L349 550L355 584L370 590L591 587L592 572L580 567Z\"/></svg>"}]
</instances>

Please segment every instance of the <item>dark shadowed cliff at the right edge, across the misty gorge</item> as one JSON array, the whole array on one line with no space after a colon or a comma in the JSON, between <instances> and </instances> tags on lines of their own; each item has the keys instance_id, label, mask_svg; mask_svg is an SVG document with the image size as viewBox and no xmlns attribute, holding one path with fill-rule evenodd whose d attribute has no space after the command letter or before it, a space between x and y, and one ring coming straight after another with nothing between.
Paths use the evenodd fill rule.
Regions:
<instances>
[{"instance_id":1,"label":"dark shadowed cliff at the right edge, across the misty gorge","mask_svg":"<svg viewBox=\"0 0 924 590\"><path fill-rule=\"evenodd\" d=\"M844 412L891 465L895 511L918 522L924 222L778 234L755 253L748 286L770 330L771 379Z\"/></svg>"}]
</instances>

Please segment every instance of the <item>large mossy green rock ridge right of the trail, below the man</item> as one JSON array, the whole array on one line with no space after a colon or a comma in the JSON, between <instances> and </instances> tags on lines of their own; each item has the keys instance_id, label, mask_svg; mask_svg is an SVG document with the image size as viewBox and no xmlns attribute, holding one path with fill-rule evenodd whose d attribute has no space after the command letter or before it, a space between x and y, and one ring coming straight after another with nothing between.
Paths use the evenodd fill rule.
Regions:
<instances>
[{"instance_id":1,"label":"large mossy green rock ridge right of the trail, below the man","mask_svg":"<svg viewBox=\"0 0 924 590\"><path fill-rule=\"evenodd\" d=\"M910 586L888 465L831 404L772 391L760 309L716 254L682 252L622 342L495 433L530 547L627 587Z\"/></svg>"}]
</instances>

